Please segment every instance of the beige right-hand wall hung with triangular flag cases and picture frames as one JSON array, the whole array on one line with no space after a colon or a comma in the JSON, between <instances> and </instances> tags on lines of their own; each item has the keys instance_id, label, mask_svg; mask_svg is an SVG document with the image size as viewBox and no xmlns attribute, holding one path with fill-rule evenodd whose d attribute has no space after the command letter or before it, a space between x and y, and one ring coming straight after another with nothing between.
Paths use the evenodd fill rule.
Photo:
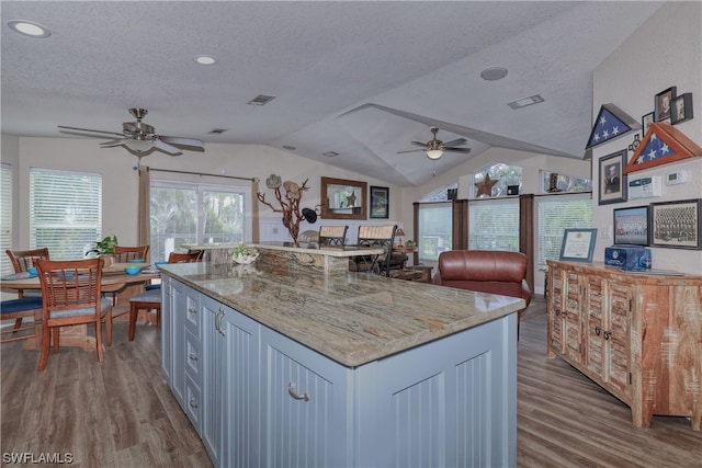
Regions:
<instances>
[{"instance_id":1,"label":"beige right-hand wall hung with triangular flag cases and picture frames","mask_svg":"<svg viewBox=\"0 0 702 468\"><path fill-rule=\"evenodd\" d=\"M633 118L654 111L654 96L677 87L677 94L691 92L694 117L675 126L702 146L702 3L667 2L632 36L630 36L595 72L593 115L600 106L613 103ZM633 133L593 148L595 168L599 159L627 148ZM641 132L639 132L641 135ZM629 158L633 152L629 152ZM702 156L702 155L700 155ZM593 195L593 225L598 228L595 260L603 261L604 248L612 240L613 209L650 203L702 198L702 158L661 164L629 174L629 181L665 175L683 169L688 182L681 185L663 184L663 196L630 199L624 203L599 205ZM593 170L593 189L599 187L598 170ZM652 248L653 267L686 273L702 272L702 252L669 248Z\"/></svg>"}]
</instances>

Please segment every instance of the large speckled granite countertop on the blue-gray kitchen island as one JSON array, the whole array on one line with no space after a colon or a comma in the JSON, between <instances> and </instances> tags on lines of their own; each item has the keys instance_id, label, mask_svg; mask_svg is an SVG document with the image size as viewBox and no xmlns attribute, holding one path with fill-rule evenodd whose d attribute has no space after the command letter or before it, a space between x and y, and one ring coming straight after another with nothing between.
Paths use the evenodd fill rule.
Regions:
<instances>
[{"instance_id":1,"label":"large speckled granite countertop on the blue-gray kitchen island","mask_svg":"<svg viewBox=\"0 0 702 468\"><path fill-rule=\"evenodd\" d=\"M366 273L178 263L166 274L252 320L356 367L512 313L524 300Z\"/></svg>"}]
</instances>

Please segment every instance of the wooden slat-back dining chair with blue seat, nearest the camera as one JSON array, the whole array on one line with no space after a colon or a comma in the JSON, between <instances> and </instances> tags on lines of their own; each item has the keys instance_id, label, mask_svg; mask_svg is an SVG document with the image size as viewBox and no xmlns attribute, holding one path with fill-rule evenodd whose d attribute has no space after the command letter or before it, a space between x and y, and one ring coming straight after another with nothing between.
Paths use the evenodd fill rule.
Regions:
<instances>
[{"instance_id":1,"label":"wooden slat-back dining chair with blue seat, nearest the camera","mask_svg":"<svg viewBox=\"0 0 702 468\"><path fill-rule=\"evenodd\" d=\"M112 301L102 297L103 259L38 260L43 299L43 336L38 370L46 368L52 343L58 353L59 329L65 326L95 326L98 361L103 361L102 320L107 345L112 344Z\"/></svg>"}]
</instances>

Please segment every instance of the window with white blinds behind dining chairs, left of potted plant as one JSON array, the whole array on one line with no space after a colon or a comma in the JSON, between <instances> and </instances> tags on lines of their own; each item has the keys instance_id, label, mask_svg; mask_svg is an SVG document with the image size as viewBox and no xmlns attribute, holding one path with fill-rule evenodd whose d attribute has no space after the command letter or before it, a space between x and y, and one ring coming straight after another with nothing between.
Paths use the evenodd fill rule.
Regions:
<instances>
[{"instance_id":1,"label":"window with white blinds behind dining chairs, left of potted plant","mask_svg":"<svg viewBox=\"0 0 702 468\"><path fill-rule=\"evenodd\" d=\"M30 169L30 249L82 259L102 236L102 175Z\"/></svg>"}]
</instances>

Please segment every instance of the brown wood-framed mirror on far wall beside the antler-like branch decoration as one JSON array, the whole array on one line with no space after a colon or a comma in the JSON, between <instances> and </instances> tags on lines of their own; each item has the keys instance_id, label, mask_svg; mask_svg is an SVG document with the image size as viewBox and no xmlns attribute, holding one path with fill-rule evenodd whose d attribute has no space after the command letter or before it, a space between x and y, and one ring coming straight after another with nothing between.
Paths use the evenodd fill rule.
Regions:
<instances>
[{"instance_id":1,"label":"brown wood-framed mirror on far wall beside the antler-like branch decoration","mask_svg":"<svg viewBox=\"0 0 702 468\"><path fill-rule=\"evenodd\" d=\"M321 217L324 219L366 219L367 183L321 178Z\"/></svg>"}]
</instances>

